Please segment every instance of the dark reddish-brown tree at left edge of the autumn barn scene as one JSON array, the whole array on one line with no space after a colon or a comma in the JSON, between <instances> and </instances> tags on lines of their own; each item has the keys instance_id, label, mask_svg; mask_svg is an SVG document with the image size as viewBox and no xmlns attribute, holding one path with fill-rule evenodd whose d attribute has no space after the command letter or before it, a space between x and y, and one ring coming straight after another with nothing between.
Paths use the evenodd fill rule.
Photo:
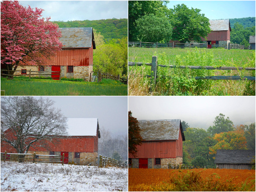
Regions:
<instances>
[{"instance_id":1,"label":"dark reddish-brown tree at left edge of the autumn barn scene","mask_svg":"<svg viewBox=\"0 0 256 192\"><path fill-rule=\"evenodd\" d=\"M137 118L132 116L131 111L128 112L128 151L134 157L137 153L137 145L142 145L142 136L138 126Z\"/></svg>"}]
</instances>

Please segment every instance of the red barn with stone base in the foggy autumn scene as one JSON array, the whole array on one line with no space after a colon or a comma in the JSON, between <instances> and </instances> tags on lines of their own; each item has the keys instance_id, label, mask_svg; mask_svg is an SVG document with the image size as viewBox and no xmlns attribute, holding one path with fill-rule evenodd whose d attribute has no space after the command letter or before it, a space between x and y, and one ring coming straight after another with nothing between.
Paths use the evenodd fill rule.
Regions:
<instances>
[{"instance_id":1,"label":"red barn with stone base in the foggy autumn scene","mask_svg":"<svg viewBox=\"0 0 256 192\"><path fill-rule=\"evenodd\" d=\"M185 136L180 120L138 120L143 144L137 145L137 157L129 154L129 167L167 168L182 163Z\"/></svg>"}]
</instances>

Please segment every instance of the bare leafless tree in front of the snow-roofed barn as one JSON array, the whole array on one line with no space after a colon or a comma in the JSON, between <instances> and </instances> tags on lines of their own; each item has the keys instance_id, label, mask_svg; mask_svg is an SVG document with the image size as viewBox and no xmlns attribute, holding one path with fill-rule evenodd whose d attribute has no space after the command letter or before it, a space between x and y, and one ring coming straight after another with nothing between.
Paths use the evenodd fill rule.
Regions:
<instances>
[{"instance_id":1,"label":"bare leafless tree in front of the snow-roofed barn","mask_svg":"<svg viewBox=\"0 0 256 192\"><path fill-rule=\"evenodd\" d=\"M67 134L67 118L53 105L49 98L1 97L1 144L27 153L45 140Z\"/></svg>"}]
</instances>

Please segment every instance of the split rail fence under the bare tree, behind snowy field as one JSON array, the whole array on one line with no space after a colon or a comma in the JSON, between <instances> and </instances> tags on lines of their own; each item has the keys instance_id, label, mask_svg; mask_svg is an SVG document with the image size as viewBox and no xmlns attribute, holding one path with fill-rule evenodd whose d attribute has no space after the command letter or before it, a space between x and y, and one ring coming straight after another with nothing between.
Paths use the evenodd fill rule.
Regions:
<instances>
[{"instance_id":1,"label":"split rail fence under the bare tree, behind snowy field","mask_svg":"<svg viewBox=\"0 0 256 192\"><path fill-rule=\"evenodd\" d=\"M29 156L29 157L25 157ZM47 158L48 157L48 158ZM30 162L45 162L45 163L62 163L64 165L64 153L63 156L48 155L48 154L36 154L31 153L4 153L1 152L1 160L5 161L30 161ZM48 161L46 161L48 160Z\"/></svg>"}]
</instances>

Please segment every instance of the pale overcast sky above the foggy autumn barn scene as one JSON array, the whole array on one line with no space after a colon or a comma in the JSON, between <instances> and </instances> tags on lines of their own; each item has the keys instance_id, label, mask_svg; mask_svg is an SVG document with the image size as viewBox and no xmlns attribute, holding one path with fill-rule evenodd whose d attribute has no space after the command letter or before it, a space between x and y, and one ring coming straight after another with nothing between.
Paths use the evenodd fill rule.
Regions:
<instances>
[{"instance_id":1,"label":"pale overcast sky above the foggy autumn barn scene","mask_svg":"<svg viewBox=\"0 0 256 192\"><path fill-rule=\"evenodd\" d=\"M234 125L255 123L255 96L133 96L128 100L137 120L180 119L207 130L222 113Z\"/></svg>"}]
</instances>

